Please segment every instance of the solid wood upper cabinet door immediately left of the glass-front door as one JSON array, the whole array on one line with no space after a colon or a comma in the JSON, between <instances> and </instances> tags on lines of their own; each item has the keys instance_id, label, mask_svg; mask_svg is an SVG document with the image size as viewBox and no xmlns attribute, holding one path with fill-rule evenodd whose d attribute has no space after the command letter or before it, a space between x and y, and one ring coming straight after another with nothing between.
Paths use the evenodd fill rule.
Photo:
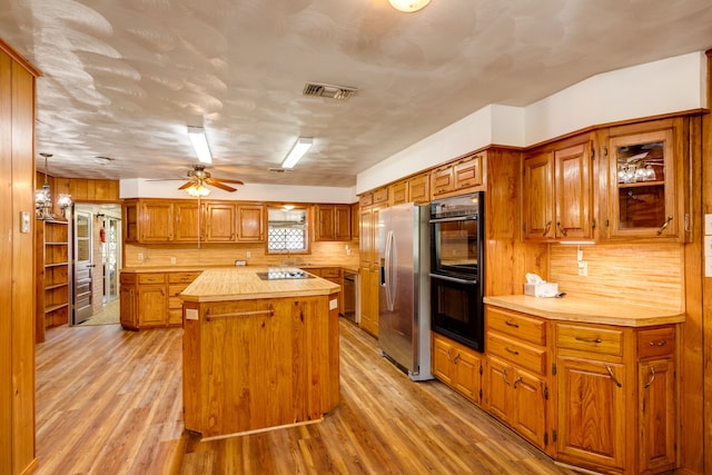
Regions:
<instances>
[{"instance_id":1,"label":"solid wood upper cabinet door immediately left of the glass-front door","mask_svg":"<svg viewBox=\"0 0 712 475\"><path fill-rule=\"evenodd\" d=\"M558 239L587 239L591 234L591 144L554 151Z\"/></svg>"}]
</instances>

